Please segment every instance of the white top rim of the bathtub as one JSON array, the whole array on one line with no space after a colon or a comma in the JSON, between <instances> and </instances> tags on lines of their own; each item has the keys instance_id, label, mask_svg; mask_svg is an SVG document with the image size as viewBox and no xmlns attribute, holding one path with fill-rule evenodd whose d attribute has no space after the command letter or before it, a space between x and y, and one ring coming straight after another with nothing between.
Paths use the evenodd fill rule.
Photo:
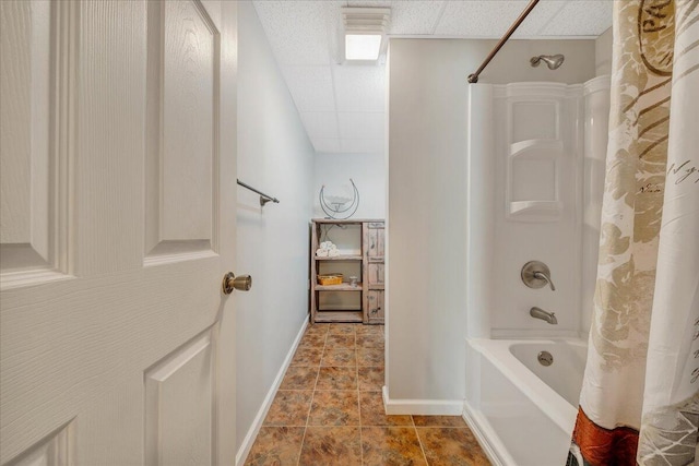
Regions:
<instances>
[{"instance_id":1,"label":"white top rim of the bathtub","mask_svg":"<svg viewBox=\"0 0 699 466\"><path fill-rule=\"evenodd\" d=\"M466 338L466 343L476 349L488 362L505 374L511 381L517 381L514 386L530 398L542 411L565 432L572 433L578 415L578 407L570 405L554 389L548 386L535 373L531 372L523 362L510 353L513 344L552 344L569 342L584 344L579 338L548 338L548 339L489 339ZM511 361L506 365L502 361Z\"/></svg>"}]
</instances>

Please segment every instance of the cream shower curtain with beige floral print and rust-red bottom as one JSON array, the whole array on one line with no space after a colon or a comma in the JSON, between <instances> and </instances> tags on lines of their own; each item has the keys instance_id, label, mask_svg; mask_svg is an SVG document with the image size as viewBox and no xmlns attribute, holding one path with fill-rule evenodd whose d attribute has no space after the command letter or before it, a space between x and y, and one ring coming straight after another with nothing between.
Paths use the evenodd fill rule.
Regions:
<instances>
[{"instance_id":1,"label":"cream shower curtain with beige floral print and rust-red bottom","mask_svg":"<svg viewBox=\"0 0 699 466\"><path fill-rule=\"evenodd\" d=\"M597 280L571 456L694 465L699 0L615 1L613 27Z\"/></svg>"}]
</instances>

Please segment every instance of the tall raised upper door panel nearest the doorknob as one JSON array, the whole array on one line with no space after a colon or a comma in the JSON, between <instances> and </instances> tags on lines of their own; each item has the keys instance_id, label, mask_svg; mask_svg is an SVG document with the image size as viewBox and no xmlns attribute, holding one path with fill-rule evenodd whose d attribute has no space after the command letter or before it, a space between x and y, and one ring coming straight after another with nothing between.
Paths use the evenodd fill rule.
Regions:
<instances>
[{"instance_id":1,"label":"tall raised upper door panel nearest the doorknob","mask_svg":"<svg viewBox=\"0 0 699 466\"><path fill-rule=\"evenodd\" d=\"M215 251L220 34L193 1L153 2L147 21L149 105L156 108L149 109L146 251L173 259Z\"/></svg>"}]
</instances>

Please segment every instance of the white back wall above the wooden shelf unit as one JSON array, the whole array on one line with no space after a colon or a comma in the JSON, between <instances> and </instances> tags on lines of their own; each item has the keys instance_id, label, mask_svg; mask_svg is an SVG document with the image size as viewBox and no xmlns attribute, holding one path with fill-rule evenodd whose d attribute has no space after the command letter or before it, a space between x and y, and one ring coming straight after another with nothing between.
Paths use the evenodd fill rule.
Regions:
<instances>
[{"instance_id":1,"label":"white back wall above the wooden shelf unit","mask_svg":"<svg viewBox=\"0 0 699 466\"><path fill-rule=\"evenodd\" d=\"M325 186L325 194L350 195L354 180L359 191L359 207L353 218L386 217L386 158L383 154L322 154L316 155L313 215L324 217L318 193Z\"/></svg>"}]
</instances>

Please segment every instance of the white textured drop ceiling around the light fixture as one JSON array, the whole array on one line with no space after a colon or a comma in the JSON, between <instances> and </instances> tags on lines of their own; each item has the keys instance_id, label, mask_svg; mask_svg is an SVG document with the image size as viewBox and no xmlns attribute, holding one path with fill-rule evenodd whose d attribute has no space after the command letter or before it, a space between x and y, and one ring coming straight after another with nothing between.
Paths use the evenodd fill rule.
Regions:
<instances>
[{"instance_id":1,"label":"white textured drop ceiling around the light fixture","mask_svg":"<svg viewBox=\"0 0 699 466\"><path fill-rule=\"evenodd\" d=\"M253 1L308 138L319 153L377 153L386 132L386 65L342 64L342 7L388 7L389 37L499 38L526 0ZM516 38L596 37L612 0L543 0Z\"/></svg>"}]
</instances>

